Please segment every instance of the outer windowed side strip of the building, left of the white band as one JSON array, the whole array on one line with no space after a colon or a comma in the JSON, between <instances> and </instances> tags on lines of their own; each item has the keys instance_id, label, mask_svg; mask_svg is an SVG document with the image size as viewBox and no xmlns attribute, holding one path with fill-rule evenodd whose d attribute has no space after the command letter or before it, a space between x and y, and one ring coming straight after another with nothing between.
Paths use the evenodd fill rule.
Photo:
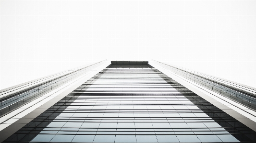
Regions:
<instances>
[{"instance_id":1,"label":"outer windowed side strip of the building, left of the white band","mask_svg":"<svg viewBox=\"0 0 256 143\"><path fill-rule=\"evenodd\" d=\"M104 60L105 61L105 60ZM3 90L0 98L0 116L25 105L26 103L41 97L49 91L60 87L72 79L86 73L93 66L103 61L97 62L82 68L74 68L65 72L57 73L49 77L39 78L32 82L24 83L14 88Z\"/></svg>"}]
</instances>

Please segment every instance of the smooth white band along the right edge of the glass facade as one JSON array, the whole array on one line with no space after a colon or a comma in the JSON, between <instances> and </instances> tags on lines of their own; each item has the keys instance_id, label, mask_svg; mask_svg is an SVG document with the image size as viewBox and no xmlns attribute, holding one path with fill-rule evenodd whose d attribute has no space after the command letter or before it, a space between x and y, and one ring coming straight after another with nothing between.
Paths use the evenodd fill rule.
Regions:
<instances>
[{"instance_id":1,"label":"smooth white band along the right edge of the glass facade","mask_svg":"<svg viewBox=\"0 0 256 143\"><path fill-rule=\"evenodd\" d=\"M182 84L184 87L190 89L198 96L202 97L203 99L206 99L208 102L218 107L220 110L223 110L224 112L232 116L234 119L242 122L244 125L246 125L250 129L256 131L256 111L255 110L252 110L244 106L243 104L235 102L232 99L229 99L217 92L214 92L213 90L210 90L209 88L206 88L196 83L195 81L186 78L185 76L182 76L180 74L173 72L168 67L166 67L166 66L170 66L168 64L161 63L156 60L149 61L149 64L157 68L159 71L161 71L168 77L171 77L178 83ZM174 67L174 66L171 66L171 67ZM184 69L183 71L186 72Z\"/></svg>"}]
</instances>

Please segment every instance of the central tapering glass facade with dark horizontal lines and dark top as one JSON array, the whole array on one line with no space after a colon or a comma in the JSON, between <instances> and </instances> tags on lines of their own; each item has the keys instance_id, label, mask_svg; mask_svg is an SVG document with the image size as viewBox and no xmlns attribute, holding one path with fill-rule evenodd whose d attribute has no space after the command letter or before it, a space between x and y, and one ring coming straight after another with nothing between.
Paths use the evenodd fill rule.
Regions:
<instances>
[{"instance_id":1,"label":"central tapering glass facade with dark horizontal lines and dark top","mask_svg":"<svg viewBox=\"0 0 256 143\"><path fill-rule=\"evenodd\" d=\"M4 143L253 143L255 134L147 61L112 61Z\"/></svg>"}]
</instances>

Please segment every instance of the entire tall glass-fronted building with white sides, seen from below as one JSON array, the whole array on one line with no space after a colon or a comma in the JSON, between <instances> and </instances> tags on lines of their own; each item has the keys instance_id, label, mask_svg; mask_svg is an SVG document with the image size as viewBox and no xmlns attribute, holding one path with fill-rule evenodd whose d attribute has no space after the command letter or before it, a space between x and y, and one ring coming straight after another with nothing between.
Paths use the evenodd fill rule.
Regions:
<instances>
[{"instance_id":1,"label":"entire tall glass-fronted building with white sides, seen from below","mask_svg":"<svg viewBox=\"0 0 256 143\"><path fill-rule=\"evenodd\" d=\"M256 141L255 88L158 61L101 61L1 90L0 142Z\"/></svg>"}]
</instances>

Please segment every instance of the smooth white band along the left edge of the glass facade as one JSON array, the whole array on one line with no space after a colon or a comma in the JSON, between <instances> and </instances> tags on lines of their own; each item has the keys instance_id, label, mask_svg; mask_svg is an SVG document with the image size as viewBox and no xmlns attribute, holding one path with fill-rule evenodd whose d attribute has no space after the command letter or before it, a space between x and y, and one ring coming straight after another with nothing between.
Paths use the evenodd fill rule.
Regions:
<instances>
[{"instance_id":1,"label":"smooth white band along the left edge of the glass facade","mask_svg":"<svg viewBox=\"0 0 256 143\"><path fill-rule=\"evenodd\" d=\"M25 124L29 123L38 115L43 113L49 107L57 103L63 97L67 96L74 89L85 83L88 79L96 75L106 66L109 66L109 62L107 60L100 61L95 64L97 66L93 69L90 69L89 72L74 78L59 88L51 90L49 93L31 101L29 104L26 104L0 117L0 143L21 129Z\"/></svg>"}]
</instances>

